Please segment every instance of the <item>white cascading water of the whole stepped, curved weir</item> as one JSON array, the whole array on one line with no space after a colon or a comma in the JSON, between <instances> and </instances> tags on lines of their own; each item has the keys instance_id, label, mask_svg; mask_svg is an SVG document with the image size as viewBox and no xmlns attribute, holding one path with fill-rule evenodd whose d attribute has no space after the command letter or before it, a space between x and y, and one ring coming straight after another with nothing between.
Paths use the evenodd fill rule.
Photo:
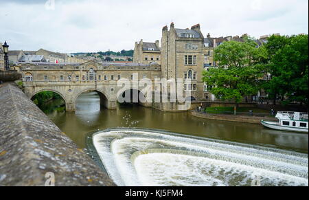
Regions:
<instances>
[{"instance_id":1,"label":"white cascading water of the whole stepped, curved weir","mask_svg":"<svg viewBox=\"0 0 309 200\"><path fill-rule=\"evenodd\" d=\"M308 186L308 155L142 129L93 135L118 186Z\"/></svg>"}]
</instances>

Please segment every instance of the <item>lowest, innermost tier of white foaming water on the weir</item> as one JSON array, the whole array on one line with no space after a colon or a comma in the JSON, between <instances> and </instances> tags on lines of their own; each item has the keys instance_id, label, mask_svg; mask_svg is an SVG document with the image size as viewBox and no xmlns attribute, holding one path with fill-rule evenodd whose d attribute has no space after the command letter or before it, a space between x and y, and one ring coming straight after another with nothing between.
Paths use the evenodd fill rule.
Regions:
<instances>
[{"instance_id":1,"label":"lowest, innermost tier of white foaming water on the weir","mask_svg":"<svg viewBox=\"0 0 309 200\"><path fill-rule=\"evenodd\" d=\"M135 159L143 186L308 186L308 179L205 157L150 153Z\"/></svg>"}]
</instances>

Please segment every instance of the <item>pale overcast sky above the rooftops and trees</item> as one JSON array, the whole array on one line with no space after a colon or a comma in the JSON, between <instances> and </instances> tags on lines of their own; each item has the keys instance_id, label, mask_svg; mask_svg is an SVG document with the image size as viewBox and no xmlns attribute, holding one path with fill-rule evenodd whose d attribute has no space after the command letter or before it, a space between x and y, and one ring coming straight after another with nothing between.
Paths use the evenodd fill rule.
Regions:
<instances>
[{"instance_id":1,"label":"pale overcast sky above the rooftops and trees","mask_svg":"<svg viewBox=\"0 0 309 200\"><path fill-rule=\"evenodd\" d=\"M0 0L0 11L0 42L23 50L133 49L171 22L204 36L308 34L308 0Z\"/></svg>"}]
</instances>

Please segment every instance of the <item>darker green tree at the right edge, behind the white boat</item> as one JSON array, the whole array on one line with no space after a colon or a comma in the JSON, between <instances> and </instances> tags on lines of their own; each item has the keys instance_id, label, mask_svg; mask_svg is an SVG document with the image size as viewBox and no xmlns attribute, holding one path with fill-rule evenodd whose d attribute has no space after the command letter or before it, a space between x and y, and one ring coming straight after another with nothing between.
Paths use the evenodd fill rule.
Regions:
<instances>
[{"instance_id":1,"label":"darker green tree at the right edge, behind the white boat","mask_svg":"<svg viewBox=\"0 0 309 200\"><path fill-rule=\"evenodd\" d=\"M271 79L264 89L283 104L308 104L308 35L271 36L265 45L269 62L265 65Z\"/></svg>"}]
</instances>

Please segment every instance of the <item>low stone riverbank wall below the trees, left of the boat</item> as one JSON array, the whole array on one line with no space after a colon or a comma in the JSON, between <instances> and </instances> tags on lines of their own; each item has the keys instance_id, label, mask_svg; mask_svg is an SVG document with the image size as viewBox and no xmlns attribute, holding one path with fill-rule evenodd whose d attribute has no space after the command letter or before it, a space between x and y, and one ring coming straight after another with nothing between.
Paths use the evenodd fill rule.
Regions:
<instances>
[{"instance_id":1,"label":"low stone riverbank wall below the trees, left of the boat","mask_svg":"<svg viewBox=\"0 0 309 200\"><path fill-rule=\"evenodd\" d=\"M191 115L196 118L203 118L207 120L221 120L229 122L243 122L250 124L261 124L261 120L276 121L275 118L258 117L258 116L245 116L245 115L220 115L220 114L207 114L191 111Z\"/></svg>"}]
</instances>

